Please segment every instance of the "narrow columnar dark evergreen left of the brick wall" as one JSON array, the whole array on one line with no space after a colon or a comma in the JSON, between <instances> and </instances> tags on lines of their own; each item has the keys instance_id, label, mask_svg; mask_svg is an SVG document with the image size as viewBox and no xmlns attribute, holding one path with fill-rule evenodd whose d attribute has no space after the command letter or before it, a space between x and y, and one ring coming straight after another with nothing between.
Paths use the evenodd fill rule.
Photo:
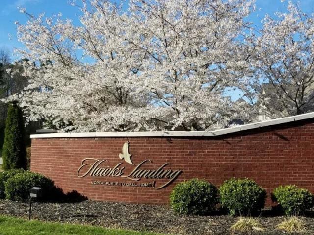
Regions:
<instances>
[{"instance_id":1,"label":"narrow columnar dark evergreen left of the brick wall","mask_svg":"<svg viewBox=\"0 0 314 235\"><path fill-rule=\"evenodd\" d=\"M9 104L4 132L2 168L4 170L26 169L24 121L22 111L16 103Z\"/></svg>"}]
</instances>

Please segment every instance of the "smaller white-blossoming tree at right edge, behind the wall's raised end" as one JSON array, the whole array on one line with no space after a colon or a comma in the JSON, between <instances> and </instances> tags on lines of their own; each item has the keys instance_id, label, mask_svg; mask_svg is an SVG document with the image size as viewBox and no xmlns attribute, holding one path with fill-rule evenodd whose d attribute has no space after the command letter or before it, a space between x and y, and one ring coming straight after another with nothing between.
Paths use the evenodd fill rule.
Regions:
<instances>
[{"instance_id":1,"label":"smaller white-blossoming tree at right edge, behind the wall's raised end","mask_svg":"<svg viewBox=\"0 0 314 235\"><path fill-rule=\"evenodd\" d=\"M314 111L314 15L292 1L288 12L266 16L255 41L256 79L273 87L260 102L272 118Z\"/></svg>"}]
</instances>

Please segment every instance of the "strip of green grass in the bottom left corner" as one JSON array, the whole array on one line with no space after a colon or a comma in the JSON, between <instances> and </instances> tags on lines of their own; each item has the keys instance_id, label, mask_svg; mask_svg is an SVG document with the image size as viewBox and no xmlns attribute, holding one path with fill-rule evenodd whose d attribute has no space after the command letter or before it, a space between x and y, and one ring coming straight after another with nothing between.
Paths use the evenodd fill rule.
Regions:
<instances>
[{"instance_id":1,"label":"strip of green grass in the bottom left corner","mask_svg":"<svg viewBox=\"0 0 314 235\"><path fill-rule=\"evenodd\" d=\"M60 224L0 216L0 235L160 235L96 226Z\"/></svg>"}]
</instances>

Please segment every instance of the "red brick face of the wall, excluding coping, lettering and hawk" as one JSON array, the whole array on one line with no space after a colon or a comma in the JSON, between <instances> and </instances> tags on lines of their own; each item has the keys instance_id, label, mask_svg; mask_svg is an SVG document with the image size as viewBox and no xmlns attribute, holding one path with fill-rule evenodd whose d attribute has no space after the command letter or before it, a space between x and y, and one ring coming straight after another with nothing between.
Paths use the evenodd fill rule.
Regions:
<instances>
[{"instance_id":1,"label":"red brick face of the wall, excluding coping, lettering and hawk","mask_svg":"<svg viewBox=\"0 0 314 235\"><path fill-rule=\"evenodd\" d=\"M167 169L181 169L183 173L169 187L159 190L91 185L91 181L134 183L120 177L78 178L84 158L107 159L105 165L112 167L123 162L118 155L126 141L130 141L134 164L150 159L152 164L146 169L156 169L167 162ZM127 163L123 166L126 173L134 168ZM247 177L268 193L285 184L314 193L314 119L204 138L35 138L31 170L52 178L65 192L77 190L93 200L168 203L173 186L192 178L219 186L231 177ZM142 179L137 183L152 181Z\"/></svg>"}]
</instances>

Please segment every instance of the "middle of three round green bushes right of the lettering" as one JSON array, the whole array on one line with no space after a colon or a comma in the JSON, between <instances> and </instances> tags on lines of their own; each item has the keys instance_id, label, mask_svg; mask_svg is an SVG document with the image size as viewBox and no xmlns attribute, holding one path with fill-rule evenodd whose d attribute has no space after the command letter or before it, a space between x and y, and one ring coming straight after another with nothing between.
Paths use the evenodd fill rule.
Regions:
<instances>
[{"instance_id":1,"label":"middle of three round green bushes right of the lettering","mask_svg":"<svg viewBox=\"0 0 314 235\"><path fill-rule=\"evenodd\" d=\"M219 188L221 206L231 215L250 215L265 206L266 190L249 179L230 179Z\"/></svg>"}]
</instances>

